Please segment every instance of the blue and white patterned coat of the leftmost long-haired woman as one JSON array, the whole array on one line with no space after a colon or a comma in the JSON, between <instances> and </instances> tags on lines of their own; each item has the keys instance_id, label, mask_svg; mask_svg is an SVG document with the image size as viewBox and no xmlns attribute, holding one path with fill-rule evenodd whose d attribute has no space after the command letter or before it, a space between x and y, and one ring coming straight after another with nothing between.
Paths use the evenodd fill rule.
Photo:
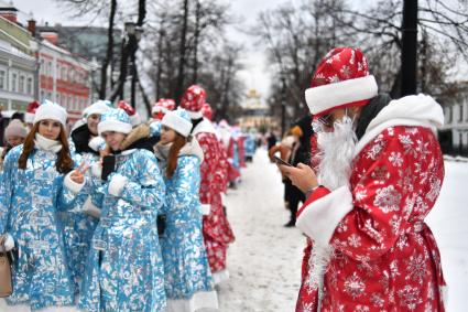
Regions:
<instances>
[{"instance_id":1,"label":"blue and white patterned coat of the leftmost long-haired woman","mask_svg":"<svg viewBox=\"0 0 468 312\"><path fill-rule=\"evenodd\" d=\"M7 303L28 304L32 311L73 305L57 212L73 207L75 194L63 185L65 174L56 170L56 153L34 148L26 169L20 170L22 151L19 146L8 153L0 189L0 233L9 233L17 247L13 293Z\"/></svg>"}]
</instances>

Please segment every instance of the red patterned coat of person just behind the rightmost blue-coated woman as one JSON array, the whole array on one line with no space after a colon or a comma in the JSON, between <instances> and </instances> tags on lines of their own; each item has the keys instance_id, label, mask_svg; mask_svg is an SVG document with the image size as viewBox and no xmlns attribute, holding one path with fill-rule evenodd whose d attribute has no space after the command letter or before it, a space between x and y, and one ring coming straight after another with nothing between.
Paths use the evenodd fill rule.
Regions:
<instances>
[{"instance_id":1,"label":"red patterned coat of person just behind the rightmost blue-coated woman","mask_svg":"<svg viewBox=\"0 0 468 312\"><path fill-rule=\"evenodd\" d=\"M221 203L221 192L226 191L227 160L214 133L198 132L195 137L205 158L200 168L200 203L210 204L209 215L203 218L203 235L210 269L216 272L226 268L226 250L235 240Z\"/></svg>"}]
</instances>

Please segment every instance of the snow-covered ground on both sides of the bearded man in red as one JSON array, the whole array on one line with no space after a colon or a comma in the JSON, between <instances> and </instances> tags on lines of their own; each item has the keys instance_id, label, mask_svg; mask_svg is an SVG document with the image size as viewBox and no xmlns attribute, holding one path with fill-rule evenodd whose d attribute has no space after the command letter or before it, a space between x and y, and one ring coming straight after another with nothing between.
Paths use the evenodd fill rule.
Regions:
<instances>
[{"instance_id":1,"label":"snow-covered ground on both sides of the bearded man in red","mask_svg":"<svg viewBox=\"0 0 468 312\"><path fill-rule=\"evenodd\" d=\"M446 161L446 179L427 218L440 249L449 312L467 311L468 163ZM285 228L289 212L276 168L259 150L229 190L228 218L236 243L228 251L230 279L219 286L221 312L294 311L300 288L304 236Z\"/></svg>"}]
</instances>

